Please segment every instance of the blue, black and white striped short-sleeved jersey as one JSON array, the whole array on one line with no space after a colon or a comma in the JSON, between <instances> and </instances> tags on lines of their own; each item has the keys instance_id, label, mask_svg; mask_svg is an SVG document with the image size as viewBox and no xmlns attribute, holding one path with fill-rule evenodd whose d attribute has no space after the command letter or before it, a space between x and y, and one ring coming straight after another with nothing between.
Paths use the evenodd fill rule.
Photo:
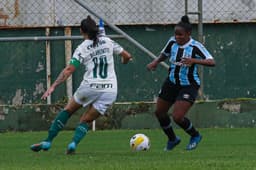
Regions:
<instances>
[{"instance_id":1,"label":"blue, black and white striped short-sleeved jersey","mask_svg":"<svg viewBox=\"0 0 256 170\"><path fill-rule=\"evenodd\" d=\"M190 39L184 45L178 45L174 37L171 37L166 46L161 52L163 55L169 57L170 61L170 81L174 84L198 85L200 86L200 78L198 75L198 66L193 64L187 66L180 61L183 57L197 58L197 59L212 59L212 55L208 50L198 41Z\"/></svg>"}]
</instances>

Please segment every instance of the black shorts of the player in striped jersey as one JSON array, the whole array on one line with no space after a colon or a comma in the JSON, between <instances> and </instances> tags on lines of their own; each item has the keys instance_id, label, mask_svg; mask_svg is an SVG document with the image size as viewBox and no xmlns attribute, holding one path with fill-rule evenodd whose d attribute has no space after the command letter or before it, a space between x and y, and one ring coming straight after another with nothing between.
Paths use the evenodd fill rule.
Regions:
<instances>
[{"instance_id":1,"label":"black shorts of the player in striped jersey","mask_svg":"<svg viewBox=\"0 0 256 170\"><path fill-rule=\"evenodd\" d=\"M169 101L172 104L177 100L188 101L193 104L198 95L199 86L179 86L172 83L169 78L167 78L159 92L158 97L163 100Z\"/></svg>"}]
</instances>

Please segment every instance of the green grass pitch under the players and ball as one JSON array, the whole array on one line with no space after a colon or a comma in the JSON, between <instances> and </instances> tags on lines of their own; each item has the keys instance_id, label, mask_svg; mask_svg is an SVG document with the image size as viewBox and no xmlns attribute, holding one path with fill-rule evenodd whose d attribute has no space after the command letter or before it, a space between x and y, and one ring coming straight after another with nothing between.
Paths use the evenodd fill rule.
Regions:
<instances>
[{"instance_id":1,"label":"green grass pitch under the players and ball","mask_svg":"<svg viewBox=\"0 0 256 170\"><path fill-rule=\"evenodd\" d=\"M0 170L256 170L256 129L200 129L203 140L190 152L185 150L188 136L176 132L180 145L164 152L166 137L160 130L90 131L75 155L65 155L72 131L61 132L48 152L39 153L29 146L47 132L0 133ZM149 136L149 151L130 150L135 133Z\"/></svg>"}]
</instances>

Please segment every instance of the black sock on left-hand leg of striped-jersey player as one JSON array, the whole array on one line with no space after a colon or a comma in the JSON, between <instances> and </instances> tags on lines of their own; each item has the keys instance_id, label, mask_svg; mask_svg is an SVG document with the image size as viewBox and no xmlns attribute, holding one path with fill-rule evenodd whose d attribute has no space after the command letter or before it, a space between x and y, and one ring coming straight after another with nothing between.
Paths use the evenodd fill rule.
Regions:
<instances>
[{"instance_id":1,"label":"black sock on left-hand leg of striped-jersey player","mask_svg":"<svg viewBox=\"0 0 256 170\"><path fill-rule=\"evenodd\" d=\"M158 118L158 121L168 139L174 141L176 139L176 135L173 131L170 117L166 115L165 117Z\"/></svg>"}]
</instances>

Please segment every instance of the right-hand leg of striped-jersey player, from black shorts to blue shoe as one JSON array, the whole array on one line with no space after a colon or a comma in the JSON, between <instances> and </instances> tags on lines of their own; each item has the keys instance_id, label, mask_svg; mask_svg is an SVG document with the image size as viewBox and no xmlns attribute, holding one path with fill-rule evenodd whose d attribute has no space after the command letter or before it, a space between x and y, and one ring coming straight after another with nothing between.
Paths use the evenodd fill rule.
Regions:
<instances>
[{"instance_id":1,"label":"right-hand leg of striped-jersey player, from black shorts to blue shoe","mask_svg":"<svg viewBox=\"0 0 256 170\"><path fill-rule=\"evenodd\" d=\"M174 103L173 107L173 120L191 137L189 144L187 145L187 150L195 149L202 139L202 136L195 129L192 122L187 117L185 117L186 113L192 107L196 96L197 89L183 89L181 90L180 95L177 98L177 101Z\"/></svg>"}]
</instances>

